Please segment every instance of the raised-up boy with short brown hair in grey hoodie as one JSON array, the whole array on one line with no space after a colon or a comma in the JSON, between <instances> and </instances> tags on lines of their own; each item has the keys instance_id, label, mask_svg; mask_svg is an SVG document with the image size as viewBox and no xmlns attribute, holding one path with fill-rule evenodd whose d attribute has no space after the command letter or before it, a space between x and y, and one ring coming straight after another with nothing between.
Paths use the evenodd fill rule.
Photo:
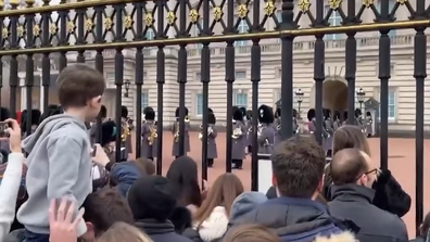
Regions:
<instances>
[{"instance_id":1,"label":"raised-up boy with short brown hair in grey hoodie","mask_svg":"<svg viewBox=\"0 0 430 242\"><path fill-rule=\"evenodd\" d=\"M92 191L91 144L85 122L100 112L104 78L98 71L76 64L61 72L56 87L64 114L48 117L22 142L28 153L29 198L18 209L17 219L25 226L26 242L49 241L52 199L66 196L81 206ZM77 235L86 230L85 221L80 221Z\"/></svg>"}]
</instances>

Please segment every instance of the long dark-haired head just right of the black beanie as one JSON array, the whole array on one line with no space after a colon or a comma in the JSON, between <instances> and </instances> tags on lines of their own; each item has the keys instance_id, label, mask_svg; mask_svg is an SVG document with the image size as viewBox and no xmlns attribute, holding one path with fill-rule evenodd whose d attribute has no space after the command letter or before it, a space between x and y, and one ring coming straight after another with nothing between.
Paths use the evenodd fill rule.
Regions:
<instances>
[{"instance_id":1,"label":"long dark-haired head just right of the black beanie","mask_svg":"<svg viewBox=\"0 0 430 242\"><path fill-rule=\"evenodd\" d=\"M178 191L178 206L200 206L202 195L199 187L198 166L189 156L177 157L167 170L166 177Z\"/></svg>"}]
</instances>

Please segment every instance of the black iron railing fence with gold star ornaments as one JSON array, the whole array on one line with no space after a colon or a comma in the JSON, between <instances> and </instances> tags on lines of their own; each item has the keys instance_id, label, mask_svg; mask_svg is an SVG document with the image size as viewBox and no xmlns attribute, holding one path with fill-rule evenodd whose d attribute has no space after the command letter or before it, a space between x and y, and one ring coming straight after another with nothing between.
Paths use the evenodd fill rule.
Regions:
<instances>
[{"instance_id":1,"label":"black iron railing fence with gold star ornaments","mask_svg":"<svg viewBox=\"0 0 430 242\"><path fill-rule=\"evenodd\" d=\"M24 3L25 2L25 3ZM414 38L414 78L416 79L416 222L422 219L423 203L423 85L427 77L427 38L425 29L430 24L430 7L423 0L328 0L328 9L325 1L312 0L282 0L282 1L251 1L251 0L103 0L67 2L61 0L60 4L50 5L49 0L36 4L33 0L9 0L10 4L0 12L0 23L3 23L0 35L1 50L0 72L3 65L9 65L10 110L15 114L17 87L22 79L18 72L25 73L25 87L27 95L27 110L31 110L31 89L38 85L43 90L43 106L50 103L48 92L51 86L50 72L51 59L59 63L59 71L63 69L67 62L85 63L88 53L94 53L96 68L103 72L105 50L114 52L116 86L116 123L121 124L122 89L124 80L124 51L135 52L136 68L135 84L137 90L137 113L141 113L142 86L147 82L143 78L146 48L156 48L156 87L157 87L157 130L163 129L163 87L165 84L165 47L175 46L178 49L177 81L179 84L180 106L180 153L184 154L184 127L185 104L187 86L187 46L200 43L201 47L201 82L203 94L203 129L207 127L208 84L211 81L211 50L210 46L215 42L225 43L225 81L227 87L227 120L232 119L232 92L235 84L235 41L249 40L251 47L251 82L252 82L252 110L253 116L257 116L258 84L262 79L261 41L269 38L280 38L281 42L281 109L282 115L292 116L293 113L293 49L294 39L301 36L314 36L314 80L316 110L322 109L322 81L325 80L325 35L346 34L345 42L345 79L347 81L347 112L349 124L353 124L355 109L355 77L357 66L357 33L377 30L379 38L379 76L380 101L381 101L381 147L380 161L383 168L388 167L388 95L391 71L391 41L390 29L412 28L415 29ZM377 8L376 4L380 4ZM151 5L152 9L149 8ZM280 8L276 8L279 5ZM395 21L395 13L400 8L405 8L410 13L409 21ZM262 11L261 11L262 10ZM277 20L275 13L281 11L281 20ZM296 11L295 11L296 10ZM328 16L333 12L342 18L341 26L329 26ZM376 20L371 24L362 24L364 11L375 13ZM294 14L296 12L298 14ZM53 17L53 16L56 17ZM299 28L301 17L309 17L311 27ZM202 21L200 21L202 20ZM273 20L275 30L264 28L266 22ZM249 33L239 34L238 26L245 21ZM215 35L214 26L220 25L223 34ZM190 29L199 29L199 36L191 37ZM174 30L175 36L168 36ZM154 33L154 39L147 39L149 31ZM75 59L75 60L73 60ZM40 63L41 84L35 84L35 68ZM0 73L3 76L3 73ZM3 84L1 78L0 86ZM321 112L316 112L317 124L322 124ZM253 126L257 126L254 118ZM137 115L137 124L141 123ZM28 122L30 124L30 122ZM281 132L283 138L292 136L292 119L282 118ZM119 128L119 127L118 127ZM317 135L321 132L321 125L317 127ZM28 130L30 127L28 127ZM256 130L254 128L253 130ZM137 125L137 133L140 133L140 125ZM232 126L227 124L227 171L231 171L231 133ZM253 133L253 143L256 144L256 132ZM207 133L203 132L203 141L207 140ZM320 141L320 140L319 140ZM117 137L119 143L119 137ZM203 143L202 165L203 178L207 177L206 157L207 145ZM162 147L162 136L157 139ZM136 150L140 150L141 142L137 139ZM256 145L254 145L256 147ZM119 155L119 154L118 154ZM157 170L161 173L162 151L159 151ZM257 154L252 154L252 188L257 187Z\"/></svg>"}]
</instances>

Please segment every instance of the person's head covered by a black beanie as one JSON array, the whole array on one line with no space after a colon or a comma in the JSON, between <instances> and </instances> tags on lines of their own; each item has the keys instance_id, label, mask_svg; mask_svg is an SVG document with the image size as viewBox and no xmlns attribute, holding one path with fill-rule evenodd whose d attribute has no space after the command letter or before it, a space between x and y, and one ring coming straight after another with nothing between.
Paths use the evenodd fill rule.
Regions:
<instances>
[{"instance_id":1,"label":"person's head covered by a black beanie","mask_svg":"<svg viewBox=\"0 0 430 242\"><path fill-rule=\"evenodd\" d=\"M135 220L165 221L175 211L175 187L167 178L143 176L131 186L127 200Z\"/></svg>"}]
</instances>

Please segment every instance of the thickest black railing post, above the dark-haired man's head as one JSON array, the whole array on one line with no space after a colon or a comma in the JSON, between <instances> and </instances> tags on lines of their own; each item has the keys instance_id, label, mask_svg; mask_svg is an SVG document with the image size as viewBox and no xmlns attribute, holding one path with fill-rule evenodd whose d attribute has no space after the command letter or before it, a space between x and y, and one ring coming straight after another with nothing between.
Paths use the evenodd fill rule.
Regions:
<instances>
[{"instance_id":1,"label":"thickest black railing post, above the dark-haired man's head","mask_svg":"<svg viewBox=\"0 0 430 242\"><path fill-rule=\"evenodd\" d=\"M282 0L282 22L280 30L296 29L294 23L294 0ZM288 139L293 135L293 41L294 36L281 36L281 137Z\"/></svg>"}]
</instances>

